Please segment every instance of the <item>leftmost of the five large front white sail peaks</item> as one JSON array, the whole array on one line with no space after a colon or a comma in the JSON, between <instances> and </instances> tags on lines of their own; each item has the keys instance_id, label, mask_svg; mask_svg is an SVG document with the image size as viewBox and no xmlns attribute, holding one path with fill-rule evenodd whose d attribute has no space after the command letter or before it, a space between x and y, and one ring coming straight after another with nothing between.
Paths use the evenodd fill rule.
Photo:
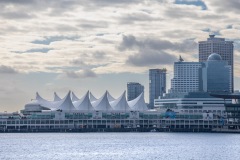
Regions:
<instances>
[{"instance_id":1,"label":"leftmost of the five large front white sail peaks","mask_svg":"<svg viewBox=\"0 0 240 160\"><path fill-rule=\"evenodd\" d=\"M58 101L55 104L54 108L55 110L64 110L64 111L76 110L71 100L71 91L69 91L68 94L61 101Z\"/></svg>"}]
</instances>

